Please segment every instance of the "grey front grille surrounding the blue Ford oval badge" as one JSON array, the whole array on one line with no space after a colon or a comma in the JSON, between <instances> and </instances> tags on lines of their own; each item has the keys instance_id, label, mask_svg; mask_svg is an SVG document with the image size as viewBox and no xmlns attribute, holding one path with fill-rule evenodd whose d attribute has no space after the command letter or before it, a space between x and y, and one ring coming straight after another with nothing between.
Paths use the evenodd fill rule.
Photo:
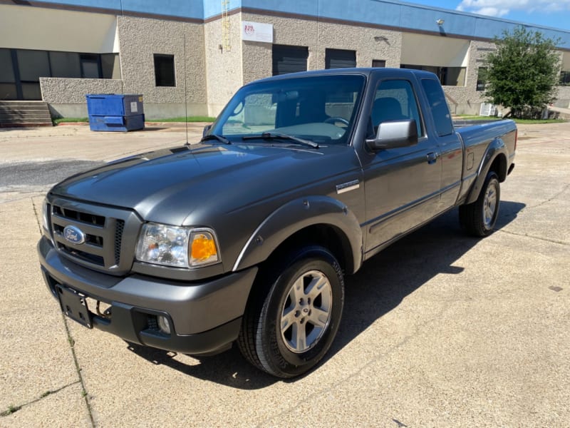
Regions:
<instances>
[{"instance_id":1,"label":"grey front grille surrounding the blue Ford oval badge","mask_svg":"<svg viewBox=\"0 0 570 428\"><path fill-rule=\"evenodd\" d=\"M60 198L51 200L50 205L51 232L60 253L76 263L116 275L130 269L135 243L129 243L125 249L127 255L123 255L121 249L125 248L125 230L130 231L132 240L138 233L140 220L134 213ZM64 230L68 226L81 231L78 234L82 239L78 243L66 239ZM133 250L130 250L131 247Z\"/></svg>"}]
</instances>

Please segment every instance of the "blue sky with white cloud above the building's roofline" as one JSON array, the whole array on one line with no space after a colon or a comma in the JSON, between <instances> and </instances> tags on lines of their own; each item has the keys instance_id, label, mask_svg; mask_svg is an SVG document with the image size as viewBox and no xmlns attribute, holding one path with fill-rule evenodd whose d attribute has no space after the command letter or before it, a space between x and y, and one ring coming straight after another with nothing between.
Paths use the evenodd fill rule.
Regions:
<instances>
[{"instance_id":1,"label":"blue sky with white cloud above the building's roofline","mask_svg":"<svg viewBox=\"0 0 570 428\"><path fill-rule=\"evenodd\" d=\"M404 0L525 24L570 30L570 0Z\"/></svg>"}]
</instances>

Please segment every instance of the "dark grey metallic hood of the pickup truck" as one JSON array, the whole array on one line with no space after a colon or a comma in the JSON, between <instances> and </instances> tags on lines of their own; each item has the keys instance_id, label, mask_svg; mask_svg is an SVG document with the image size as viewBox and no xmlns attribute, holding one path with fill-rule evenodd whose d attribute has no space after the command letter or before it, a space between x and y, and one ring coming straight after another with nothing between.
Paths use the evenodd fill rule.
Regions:
<instances>
[{"instance_id":1,"label":"dark grey metallic hood of the pickup truck","mask_svg":"<svg viewBox=\"0 0 570 428\"><path fill-rule=\"evenodd\" d=\"M142 153L73 175L51 193L135 210L144 220L174 225L207 224L271 195L323 180L326 154L319 149L263 144L199 144ZM348 159L351 157L348 157ZM345 166L347 166L345 164ZM354 165L356 166L356 165ZM302 172L302 173L301 173Z\"/></svg>"}]
</instances>

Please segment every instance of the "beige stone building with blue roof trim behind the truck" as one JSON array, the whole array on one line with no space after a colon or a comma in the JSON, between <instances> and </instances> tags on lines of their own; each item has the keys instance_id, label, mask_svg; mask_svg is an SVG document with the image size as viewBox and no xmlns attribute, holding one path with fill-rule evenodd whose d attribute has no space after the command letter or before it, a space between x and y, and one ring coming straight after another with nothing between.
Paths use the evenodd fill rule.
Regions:
<instances>
[{"instance_id":1,"label":"beige stone building with blue roof trim behind the truck","mask_svg":"<svg viewBox=\"0 0 570 428\"><path fill-rule=\"evenodd\" d=\"M0 100L42 99L81 117L87 93L141 93L147 118L216 116L257 78L385 66L437 73L453 113L478 113L484 56L516 25L383 0L0 0ZM565 43L570 83L570 31L528 27ZM570 86L557 98L568 108Z\"/></svg>"}]
</instances>

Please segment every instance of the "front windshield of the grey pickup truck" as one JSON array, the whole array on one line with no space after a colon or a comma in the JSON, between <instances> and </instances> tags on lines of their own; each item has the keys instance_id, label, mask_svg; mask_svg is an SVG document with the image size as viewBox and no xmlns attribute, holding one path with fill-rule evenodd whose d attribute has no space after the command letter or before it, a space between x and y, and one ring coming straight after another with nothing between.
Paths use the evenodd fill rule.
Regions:
<instances>
[{"instance_id":1,"label":"front windshield of the grey pickup truck","mask_svg":"<svg viewBox=\"0 0 570 428\"><path fill-rule=\"evenodd\" d=\"M266 142L263 136L294 136L317 144L346 144L364 76L310 76L261 81L241 88L209 131L230 141ZM284 139L284 143L291 140Z\"/></svg>"}]
</instances>

